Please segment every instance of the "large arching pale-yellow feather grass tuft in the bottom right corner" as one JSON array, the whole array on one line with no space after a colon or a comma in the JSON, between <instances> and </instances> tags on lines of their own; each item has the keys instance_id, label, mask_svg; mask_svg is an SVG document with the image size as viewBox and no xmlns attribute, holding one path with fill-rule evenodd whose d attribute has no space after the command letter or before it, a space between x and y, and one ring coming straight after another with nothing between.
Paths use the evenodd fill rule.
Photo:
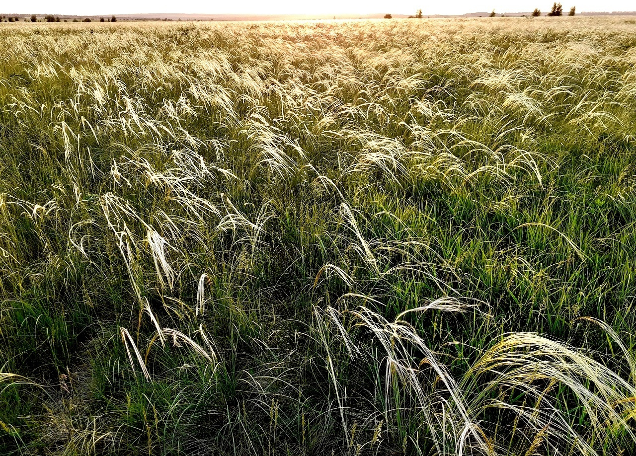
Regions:
<instances>
[{"instance_id":1,"label":"large arching pale-yellow feather grass tuft in the bottom right corner","mask_svg":"<svg viewBox=\"0 0 636 456\"><path fill-rule=\"evenodd\" d=\"M635 435L625 421L630 413L623 404L635 395L632 383L614 371L572 349L565 343L530 333L515 333L495 343L466 373L461 387L473 390L481 376L492 377L477 396L479 408L502 408L519 415L532 429L541 429L544 443L553 450L577 448L583 454L597 454L591 444L607 445L612 434ZM552 397L551 388L562 385L590 420L587 429L579 431L560 410L560 397ZM484 400L496 389L523 392L536 401L536 406ZM626 413L627 412L627 413Z\"/></svg>"}]
</instances>

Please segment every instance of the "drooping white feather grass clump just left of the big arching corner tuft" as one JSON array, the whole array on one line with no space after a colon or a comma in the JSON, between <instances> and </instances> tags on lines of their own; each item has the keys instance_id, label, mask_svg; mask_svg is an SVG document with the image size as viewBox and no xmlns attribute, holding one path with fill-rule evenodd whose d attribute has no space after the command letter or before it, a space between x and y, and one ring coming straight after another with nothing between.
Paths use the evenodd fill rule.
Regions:
<instances>
[{"instance_id":1,"label":"drooping white feather grass clump just left of the big arching corner tuft","mask_svg":"<svg viewBox=\"0 0 636 456\"><path fill-rule=\"evenodd\" d=\"M440 308L444 310L460 311L466 308L460 305L460 301L450 298L435 301L429 306L424 306L421 310L428 308ZM324 311L326 319L322 319L321 311L317 308L314 313L320 318L323 325L327 322L333 322L338 331L343 335L343 342L347 347L350 357L354 356L379 356L377 359L378 366L385 363L384 377L384 397L385 397L385 420L393 422L399 414L401 405L399 402L390 403L391 397L407 394L410 401L414 401L417 410L422 413L424 426L431 433L432 440L436 446L436 450L440 454L457 454L469 451L468 448L474 448L487 454L494 453L490 448L488 439L485 438L483 431L477 424L476 417L466 407L462 390L459 389L457 382L453 379L450 371L446 366L438 361L437 356L429 349L425 340L413 330L413 327L406 322L397 321L389 322L380 314L373 312L366 307L359 307L357 310L350 310L350 313L356 321L350 324L349 328L344 328L342 324L342 313L336 312L332 308ZM400 315L403 316L403 315ZM364 355L362 355L363 347L356 347L352 350L354 337L350 335L350 331L356 328L364 328L372 336L372 340L382 347L382 352L371 350L364 347ZM326 336L321 333L322 340L326 342ZM423 356L422 362L418 365L413 359L413 349L420 352ZM372 355L373 354L373 355ZM440 382L443 388L439 390L434 383L425 384L423 378L420 378L420 367L425 364L431 368L437 377L434 383ZM338 396L338 383L336 381L335 368L331 356L328 358L328 371L335 385L336 396ZM445 397L446 396L446 397ZM396 400L396 399L394 399ZM346 428L346 420L343 410L343 400L338 396L338 404L342 415L343 429ZM438 407L441 408L438 410ZM441 439L440 436L445 435L448 441ZM443 443L443 445L442 445Z\"/></svg>"}]
</instances>

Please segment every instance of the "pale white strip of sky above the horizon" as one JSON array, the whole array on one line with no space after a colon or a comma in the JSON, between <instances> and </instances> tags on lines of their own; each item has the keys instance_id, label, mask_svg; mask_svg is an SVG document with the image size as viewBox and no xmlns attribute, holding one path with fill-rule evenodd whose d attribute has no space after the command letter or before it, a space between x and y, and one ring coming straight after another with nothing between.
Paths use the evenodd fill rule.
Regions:
<instances>
[{"instance_id":1,"label":"pale white strip of sky above the horizon","mask_svg":"<svg viewBox=\"0 0 636 456\"><path fill-rule=\"evenodd\" d=\"M576 6L576 11L635 11L636 4L627 0L560 0L563 10ZM413 14L422 8L426 14L463 14L476 11L495 10L532 11L539 8L550 11L550 0L22 0L10 2L0 0L2 13L53 13L64 15L106 15L133 13L200 13L200 14L369 14L394 13Z\"/></svg>"}]
</instances>

